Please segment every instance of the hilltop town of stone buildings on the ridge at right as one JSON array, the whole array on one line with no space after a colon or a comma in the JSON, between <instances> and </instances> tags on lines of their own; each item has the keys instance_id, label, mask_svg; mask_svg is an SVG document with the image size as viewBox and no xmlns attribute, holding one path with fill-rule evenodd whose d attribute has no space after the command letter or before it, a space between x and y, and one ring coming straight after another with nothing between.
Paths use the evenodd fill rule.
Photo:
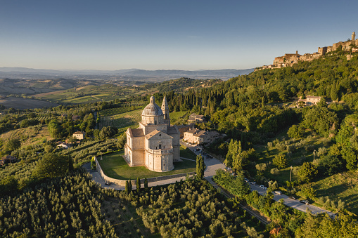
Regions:
<instances>
[{"instance_id":1,"label":"hilltop town of stone buildings on the ridge at right","mask_svg":"<svg viewBox=\"0 0 358 238\"><path fill-rule=\"evenodd\" d=\"M350 53L358 52L358 39L355 39L355 37L355 32L353 32L351 39L348 39L347 41L339 41L332 46L319 47L318 51L314 53L305 53L304 55L300 55L298 51L296 51L296 53L286 53L283 56L276 57L272 65L258 67L255 71L264 69L279 69L281 67L295 65L300 61L312 61L326 55L326 53L337 50L350 51ZM351 57L352 55L347 55L347 60L350 60Z\"/></svg>"}]
</instances>

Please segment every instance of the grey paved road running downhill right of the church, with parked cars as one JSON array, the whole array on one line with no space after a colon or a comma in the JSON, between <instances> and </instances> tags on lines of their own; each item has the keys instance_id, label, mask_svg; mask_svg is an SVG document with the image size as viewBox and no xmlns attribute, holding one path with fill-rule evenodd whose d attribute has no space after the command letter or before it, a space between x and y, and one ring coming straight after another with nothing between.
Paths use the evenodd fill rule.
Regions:
<instances>
[{"instance_id":1,"label":"grey paved road running downhill right of the church, with parked cars","mask_svg":"<svg viewBox=\"0 0 358 238\"><path fill-rule=\"evenodd\" d=\"M192 150L194 153L199 154L198 152L196 152L196 148L200 148L196 145L186 145L186 143L182 143L181 145L184 145L186 147L188 147L190 150ZM200 148L201 149L201 148ZM215 171L219 168L224 169L225 165L222 164L221 161L219 161L218 159L204 159L204 162L207 166L205 172L204 172L204 178L209 181L209 183L211 183L214 187L218 188L219 186L217 186L217 184L212 181L212 176L215 176ZM260 195L264 195L266 194L267 190L262 189L259 185L252 185L250 184L250 188L251 190L256 190ZM313 214L317 214L317 213L328 213L329 216L334 216L334 213L332 213L331 211L326 211L324 209L319 208L318 206L313 206L311 204L306 205L306 204L302 204L300 203L300 201L298 200L293 200L290 199L288 196L286 196L285 194L279 195L279 194L274 194L274 200L275 201L279 201L280 199L283 199L283 204L285 204L286 206L290 206L293 209L298 209L300 211L306 212L307 209L309 209L309 211L311 211Z\"/></svg>"}]
</instances>

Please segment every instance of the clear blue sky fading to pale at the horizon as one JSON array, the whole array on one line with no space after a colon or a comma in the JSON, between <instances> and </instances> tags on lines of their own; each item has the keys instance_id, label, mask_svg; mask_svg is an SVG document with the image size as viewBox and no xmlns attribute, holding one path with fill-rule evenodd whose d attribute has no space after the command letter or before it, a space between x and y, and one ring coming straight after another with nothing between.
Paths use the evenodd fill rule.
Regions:
<instances>
[{"instance_id":1,"label":"clear blue sky fading to pale at the horizon","mask_svg":"<svg viewBox=\"0 0 358 238\"><path fill-rule=\"evenodd\" d=\"M0 0L0 67L247 69L347 40L357 9L345 0Z\"/></svg>"}]
</instances>

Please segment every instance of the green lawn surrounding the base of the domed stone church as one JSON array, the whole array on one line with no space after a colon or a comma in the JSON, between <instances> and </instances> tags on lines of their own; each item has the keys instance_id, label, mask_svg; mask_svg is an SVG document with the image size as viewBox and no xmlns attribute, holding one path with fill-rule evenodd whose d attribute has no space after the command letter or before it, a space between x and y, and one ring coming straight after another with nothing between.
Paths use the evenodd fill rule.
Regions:
<instances>
[{"instance_id":1,"label":"green lawn surrounding the base of the domed stone church","mask_svg":"<svg viewBox=\"0 0 358 238\"><path fill-rule=\"evenodd\" d=\"M137 177L153 178L196 171L196 162L188 160L174 162L174 170L162 173L150 171L145 166L129 167L122 155L124 155L124 151L104 155L103 160L98 160L106 176L122 180L134 180Z\"/></svg>"}]
</instances>

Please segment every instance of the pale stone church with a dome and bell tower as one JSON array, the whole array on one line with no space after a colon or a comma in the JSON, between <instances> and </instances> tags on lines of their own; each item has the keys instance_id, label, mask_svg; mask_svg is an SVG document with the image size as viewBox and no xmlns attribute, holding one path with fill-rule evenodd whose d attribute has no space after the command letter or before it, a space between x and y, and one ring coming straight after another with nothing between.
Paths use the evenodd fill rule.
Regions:
<instances>
[{"instance_id":1,"label":"pale stone church with a dome and bell tower","mask_svg":"<svg viewBox=\"0 0 358 238\"><path fill-rule=\"evenodd\" d=\"M129 166L146 166L151 171L165 172L174 168L173 161L179 161L180 133L177 126L170 126L166 97L160 108L151 96L151 103L141 114L139 128L128 128L126 133L124 158Z\"/></svg>"}]
</instances>

